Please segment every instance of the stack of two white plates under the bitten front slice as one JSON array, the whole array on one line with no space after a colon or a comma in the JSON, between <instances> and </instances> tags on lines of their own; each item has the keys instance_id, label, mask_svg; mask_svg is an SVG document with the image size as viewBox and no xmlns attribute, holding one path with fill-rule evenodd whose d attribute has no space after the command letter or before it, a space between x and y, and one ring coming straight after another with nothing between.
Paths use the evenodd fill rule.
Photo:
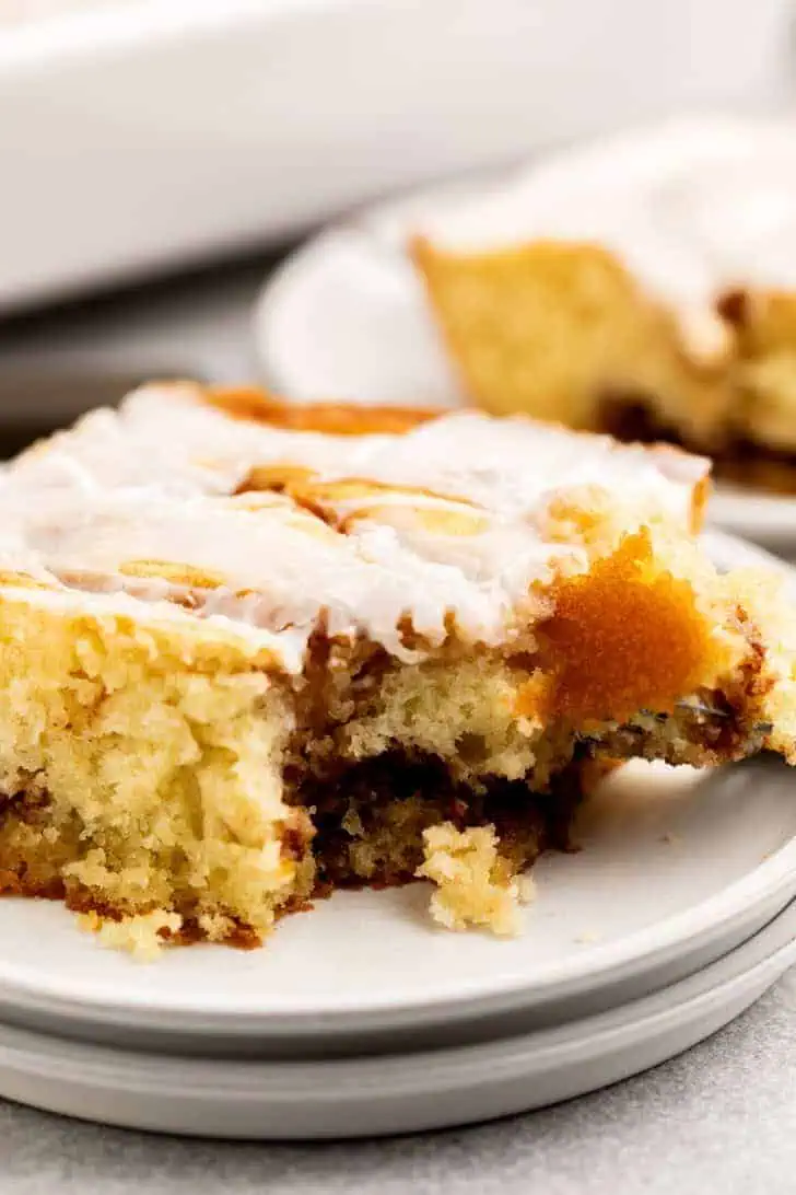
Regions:
<instances>
[{"instance_id":1,"label":"stack of two white plates under the bitten front slice","mask_svg":"<svg viewBox=\"0 0 796 1195\"><path fill-rule=\"evenodd\" d=\"M759 563L727 537L717 563ZM56 905L0 902L0 1095L129 1127L399 1133L568 1098L726 1024L796 962L796 782L630 765L524 933L433 926L424 884L339 893L266 948L149 964Z\"/></svg>"}]
</instances>

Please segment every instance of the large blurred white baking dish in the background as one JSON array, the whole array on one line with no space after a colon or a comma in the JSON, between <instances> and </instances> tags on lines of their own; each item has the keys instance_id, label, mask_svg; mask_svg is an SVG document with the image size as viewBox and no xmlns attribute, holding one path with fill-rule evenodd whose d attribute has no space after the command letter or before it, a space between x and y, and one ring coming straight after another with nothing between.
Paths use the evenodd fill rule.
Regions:
<instances>
[{"instance_id":1,"label":"large blurred white baking dish in the background","mask_svg":"<svg viewBox=\"0 0 796 1195\"><path fill-rule=\"evenodd\" d=\"M0 310L789 73L788 0L86 2L0 22Z\"/></svg>"}]
</instances>

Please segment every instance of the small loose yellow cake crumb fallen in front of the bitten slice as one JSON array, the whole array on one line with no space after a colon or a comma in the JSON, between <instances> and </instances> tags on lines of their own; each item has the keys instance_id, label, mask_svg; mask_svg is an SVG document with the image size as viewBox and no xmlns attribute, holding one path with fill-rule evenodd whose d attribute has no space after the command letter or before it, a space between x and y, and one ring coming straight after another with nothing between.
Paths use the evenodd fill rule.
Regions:
<instances>
[{"instance_id":1,"label":"small loose yellow cake crumb fallen in front of the bitten slice","mask_svg":"<svg viewBox=\"0 0 796 1195\"><path fill-rule=\"evenodd\" d=\"M520 932L520 906L533 895L530 876L512 875L498 853L494 826L458 831L442 822L424 831L425 862L416 875L432 880L431 915L449 930L483 926L501 937Z\"/></svg>"}]
</instances>

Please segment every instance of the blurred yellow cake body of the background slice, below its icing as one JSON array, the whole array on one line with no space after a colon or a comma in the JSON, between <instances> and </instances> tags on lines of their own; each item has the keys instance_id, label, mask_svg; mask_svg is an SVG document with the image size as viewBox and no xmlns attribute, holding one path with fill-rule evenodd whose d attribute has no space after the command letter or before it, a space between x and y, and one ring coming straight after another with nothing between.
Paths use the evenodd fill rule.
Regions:
<instances>
[{"instance_id":1,"label":"blurred yellow cake body of the background slice, below its icing","mask_svg":"<svg viewBox=\"0 0 796 1195\"><path fill-rule=\"evenodd\" d=\"M796 295L717 293L701 347L699 329L597 244L465 253L416 239L412 256L485 410L668 440L714 456L720 476L796 489Z\"/></svg>"}]
</instances>

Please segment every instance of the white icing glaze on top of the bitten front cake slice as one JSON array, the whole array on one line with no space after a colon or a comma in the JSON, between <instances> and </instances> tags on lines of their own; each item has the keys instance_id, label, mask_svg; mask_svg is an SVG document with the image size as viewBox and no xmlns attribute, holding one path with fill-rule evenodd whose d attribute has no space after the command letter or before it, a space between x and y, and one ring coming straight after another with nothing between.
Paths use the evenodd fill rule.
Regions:
<instances>
[{"instance_id":1,"label":"white icing glaze on top of the bitten front cake slice","mask_svg":"<svg viewBox=\"0 0 796 1195\"><path fill-rule=\"evenodd\" d=\"M333 526L283 496L233 496L274 465L310 471L315 486L354 480L317 490ZM202 617L232 620L288 668L321 612L332 632L407 656L407 618L432 644L450 615L469 639L510 633L529 586L579 556L544 540L557 494L600 485L636 525L654 513L683 523L705 473L696 458L524 419L463 411L405 435L329 436L232 418L198 387L152 386L5 471L0 568L60 587L31 600L112 612L124 592L124 612L146 619L174 582L140 565L171 563L206 576Z\"/></svg>"}]
</instances>

